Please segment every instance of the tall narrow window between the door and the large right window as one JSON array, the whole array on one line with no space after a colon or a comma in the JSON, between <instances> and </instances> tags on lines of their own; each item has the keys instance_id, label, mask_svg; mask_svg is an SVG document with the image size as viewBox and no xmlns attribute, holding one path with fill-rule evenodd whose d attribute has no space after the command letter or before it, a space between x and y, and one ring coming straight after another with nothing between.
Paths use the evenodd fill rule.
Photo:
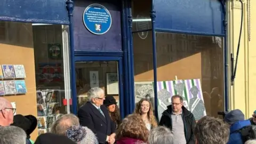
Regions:
<instances>
[{"instance_id":1,"label":"tall narrow window between the door and the large right window","mask_svg":"<svg viewBox=\"0 0 256 144\"><path fill-rule=\"evenodd\" d=\"M154 108L152 31L148 30L151 29L150 9L150 1L132 1L132 28L140 31L133 34L135 102L148 98Z\"/></svg>"}]
</instances>

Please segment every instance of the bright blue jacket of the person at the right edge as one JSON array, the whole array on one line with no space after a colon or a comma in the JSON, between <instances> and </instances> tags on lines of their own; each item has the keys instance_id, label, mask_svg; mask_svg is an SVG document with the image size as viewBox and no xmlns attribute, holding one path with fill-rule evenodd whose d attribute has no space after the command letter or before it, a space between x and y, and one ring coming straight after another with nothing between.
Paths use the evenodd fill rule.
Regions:
<instances>
[{"instance_id":1,"label":"bright blue jacket of the person at the right edge","mask_svg":"<svg viewBox=\"0 0 256 144\"><path fill-rule=\"evenodd\" d=\"M239 121L230 126L230 136L227 144L244 144L241 134L239 132L235 132L241 129L244 126L251 125L249 120Z\"/></svg>"}]
</instances>

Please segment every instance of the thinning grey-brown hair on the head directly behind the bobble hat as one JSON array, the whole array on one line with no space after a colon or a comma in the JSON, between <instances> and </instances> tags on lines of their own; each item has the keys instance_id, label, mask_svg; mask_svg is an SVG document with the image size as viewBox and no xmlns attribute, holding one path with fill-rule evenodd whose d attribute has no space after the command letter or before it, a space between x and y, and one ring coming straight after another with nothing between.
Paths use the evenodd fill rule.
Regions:
<instances>
[{"instance_id":1,"label":"thinning grey-brown hair on the head directly behind the bobble hat","mask_svg":"<svg viewBox=\"0 0 256 144\"><path fill-rule=\"evenodd\" d=\"M74 114L66 114L59 117L51 127L51 132L66 135L66 131L74 125L79 125L79 119Z\"/></svg>"}]
</instances>

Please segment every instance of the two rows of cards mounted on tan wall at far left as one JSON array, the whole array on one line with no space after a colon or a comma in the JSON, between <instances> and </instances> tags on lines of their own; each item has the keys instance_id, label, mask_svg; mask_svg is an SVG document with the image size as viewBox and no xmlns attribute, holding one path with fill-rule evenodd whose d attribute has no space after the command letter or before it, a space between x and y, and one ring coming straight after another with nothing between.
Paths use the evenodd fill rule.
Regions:
<instances>
[{"instance_id":1,"label":"two rows of cards mounted on tan wall at far left","mask_svg":"<svg viewBox=\"0 0 256 144\"><path fill-rule=\"evenodd\" d=\"M0 65L0 95L26 94L23 65Z\"/></svg>"}]
</instances>

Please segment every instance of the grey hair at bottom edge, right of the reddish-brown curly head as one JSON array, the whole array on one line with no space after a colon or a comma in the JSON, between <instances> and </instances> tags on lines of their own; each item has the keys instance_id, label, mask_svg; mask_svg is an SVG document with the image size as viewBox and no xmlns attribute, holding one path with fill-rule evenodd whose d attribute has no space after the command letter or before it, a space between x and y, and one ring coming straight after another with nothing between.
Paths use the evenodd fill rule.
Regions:
<instances>
[{"instance_id":1,"label":"grey hair at bottom edge, right of the reddish-brown curly head","mask_svg":"<svg viewBox=\"0 0 256 144\"><path fill-rule=\"evenodd\" d=\"M149 144L173 144L174 136L172 132L164 126L158 126L152 129L149 133Z\"/></svg>"}]
</instances>

